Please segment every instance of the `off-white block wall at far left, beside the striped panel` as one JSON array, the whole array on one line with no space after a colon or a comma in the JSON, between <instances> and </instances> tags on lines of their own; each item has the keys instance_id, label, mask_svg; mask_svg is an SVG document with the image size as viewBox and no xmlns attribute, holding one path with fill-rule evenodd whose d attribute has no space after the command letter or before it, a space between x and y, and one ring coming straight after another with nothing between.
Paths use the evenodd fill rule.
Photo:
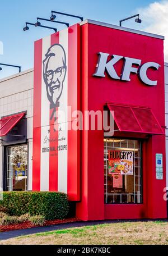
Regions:
<instances>
[{"instance_id":1,"label":"off-white block wall at far left, beside the striped panel","mask_svg":"<svg viewBox=\"0 0 168 256\"><path fill-rule=\"evenodd\" d=\"M0 80L0 118L27 111L28 189L32 184L33 69ZM2 138L0 138L2 139ZM0 187L3 180L3 147L0 141Z\"/></svg>"}]
</instances>

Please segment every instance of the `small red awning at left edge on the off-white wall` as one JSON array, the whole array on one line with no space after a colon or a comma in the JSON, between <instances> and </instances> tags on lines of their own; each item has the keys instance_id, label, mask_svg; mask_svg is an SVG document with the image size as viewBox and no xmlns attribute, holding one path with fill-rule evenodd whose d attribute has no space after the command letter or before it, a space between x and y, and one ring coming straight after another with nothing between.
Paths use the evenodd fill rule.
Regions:
<instances>
[{"instance_id":1,"label":"small red awning at left edge on the off-white wall","mask_svg":"<svg viewBox=\"0 0 168 256\"><path fill-rule=\"evenodd\" d=\"M4 117L0 120L0 137L7 133L25 116L25 113Z\"/></svg>"}]
</instances>

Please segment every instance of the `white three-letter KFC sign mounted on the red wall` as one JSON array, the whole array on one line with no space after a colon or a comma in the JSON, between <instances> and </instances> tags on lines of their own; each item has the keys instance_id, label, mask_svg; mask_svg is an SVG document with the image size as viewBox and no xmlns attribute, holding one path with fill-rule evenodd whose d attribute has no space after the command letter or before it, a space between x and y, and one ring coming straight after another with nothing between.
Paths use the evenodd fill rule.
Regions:
<instances>
[{"instance_id":1,"label":"white three-letter KFC sign mounted on the red wall","mask_svg":"<svg viewBox=\"0 0 168 256\"><path fill-rule=\"evenodd\" d=\"M158 63L147 62L141 66L141 60L119 55L112 55L111 60L107 62L110 54L104 52L99 52L98 54L99 59L96 65L96 71L94 76L105 77L106 71L108 75L113 79L130 81L130 74L136 73L138 74L139 79L141 79L144 84L157 85L157 81L149 79L149 77L147 76L147 70L148 68L155 68L156 70L158 70L158 68L160 67ZM114 64L122 59L124 60L124 65L122 68L122 74L119 76L115 71ZM133 65L136 65L137 67L133 67Z\"/></svg>"}]
</instances>

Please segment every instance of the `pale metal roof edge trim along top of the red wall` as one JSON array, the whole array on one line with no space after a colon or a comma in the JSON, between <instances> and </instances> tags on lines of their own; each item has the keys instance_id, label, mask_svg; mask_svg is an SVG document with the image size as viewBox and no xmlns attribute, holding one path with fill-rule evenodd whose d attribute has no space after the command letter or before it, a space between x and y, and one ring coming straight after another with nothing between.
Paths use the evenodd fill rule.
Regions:
<instances>
[{"instance_id":1,"label":"pale metal roof edge trim along top of the red wall","mask_svg":"<svg viewBox=\"0 0 168 256\"><path fill-rule=\"evenodd\" d=\"M118 30L122 30L122 31L127 31L130 33L134 33L134 34L139 34L139 35L146 35L146 36L151 36L153 38L158 38L158 39L165 39L165 36L162 35L156 35L156 34L152 34L152 33L148 33L148 32L144 32L144 31L140 31L140 30L135 30L135 29L129 29L129 28L124 28L121 26L116 26L116 25L112 25L112 24L108 24L105 22L100 22L100 21L96 21L96 20L84 20L82 22L80 22L80 25L84 25L84 24L94 24L94 25L99 25L99 26L105 26L107 28L111 28L111 29L118 29Z\"/></svg>"}]
</instances>

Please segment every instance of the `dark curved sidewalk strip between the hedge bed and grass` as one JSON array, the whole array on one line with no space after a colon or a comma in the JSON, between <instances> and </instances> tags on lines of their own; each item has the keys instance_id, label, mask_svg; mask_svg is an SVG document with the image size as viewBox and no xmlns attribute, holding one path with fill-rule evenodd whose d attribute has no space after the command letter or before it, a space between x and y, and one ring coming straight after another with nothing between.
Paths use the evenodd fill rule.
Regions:
<instances>
[{"instance_id":1,"label":"dark curved sidewalk strip between the hedge bed and grass","mask_svg":"<svg viewBox=\"0 0 168 256\"><path fill-rule=\"evenodd\" d=\"M106 220L106 221L81 221L81 222L71 222L64 224L57 224L45 227L32 227L26 228L24 230L12 230L8 232L0 232L0 240L10 239L13 237L24 236L24 235L32 235L41 232L49 232L54 230L62 230L71 227L83 227L83 226L91 226L91 225L99 225L105 223L119 223L119 222L138 222L138 221L158 221L158 220ZM160 220L160 221L168 221L168 220Z\"/></svg>"}]
</instances>

